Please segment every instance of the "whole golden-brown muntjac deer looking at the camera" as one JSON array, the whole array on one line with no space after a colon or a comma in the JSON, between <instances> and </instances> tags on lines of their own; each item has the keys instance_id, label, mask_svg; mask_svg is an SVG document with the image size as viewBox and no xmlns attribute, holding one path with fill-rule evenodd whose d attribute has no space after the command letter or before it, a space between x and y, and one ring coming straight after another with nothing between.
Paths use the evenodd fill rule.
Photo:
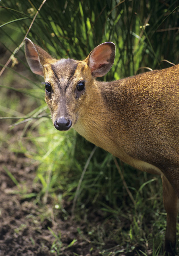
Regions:
<instances>
[{"instance_id":1,"label":"whole golden-brown muntjac deer looking at the camera","mask_svg":"<svg viewBox=\"0 0 179 256\"><path fill-rule=\"evenodd\" d=\"M56 129L73 127L88 141L163 182L165 250L174 255L179 208L179 65L100 82L115 44L95 47L83 61L54 59L25 40L28 64L44 76L45 100Z\"/></svg>"}]
</instances>

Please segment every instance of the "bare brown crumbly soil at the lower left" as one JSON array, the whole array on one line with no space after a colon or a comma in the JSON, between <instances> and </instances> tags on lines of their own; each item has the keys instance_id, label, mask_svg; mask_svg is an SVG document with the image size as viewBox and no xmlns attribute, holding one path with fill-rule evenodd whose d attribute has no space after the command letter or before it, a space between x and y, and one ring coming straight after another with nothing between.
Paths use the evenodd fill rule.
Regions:
<instances>
[{"instance_id":1,"label":"bare brown crumbly soil at the lower left","mask_svg":"<svg viewBox=\"0 0 179 256\"><path fill-rule=\"evenodd\" d=\"M11 174L19 182L17 187L7 174ZM38 193L40 184L33 183L36 165L22 154L10 152L6 147L0 152L0 255L3 256L48 256L57 255L52 252L55 234L61 233L61 248L59 255L91 255L90 240L80 232L84 230L83 223L75 223L68 218L62 220L54 212L53 203L37 205L34 197L24 198L25 194ZM21 191L21 192L20 192ZM46 212L46 216L42 213ZM43 220L41 219L43 216ZM74 239L77 242L67 247ZM59 246L60 247L60 246ZM51 251L51 252L50 252ZM98 255L94 250L93 255Z\"/></svg>"}]
</instances>

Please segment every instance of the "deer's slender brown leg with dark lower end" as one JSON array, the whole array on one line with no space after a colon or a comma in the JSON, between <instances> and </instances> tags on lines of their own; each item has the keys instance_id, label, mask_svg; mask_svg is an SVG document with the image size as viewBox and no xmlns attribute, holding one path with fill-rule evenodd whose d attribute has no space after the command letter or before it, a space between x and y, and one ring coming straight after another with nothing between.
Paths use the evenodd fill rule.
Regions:
<instances>
[{"instance_id":1,"label":"deer's slender brown leg with dark lower end","mask_svg":"<svg viewBox=\"0 0 179 256\"><path fill-rule=\"evenodd\" d=\"M179 199L168 179L162 175L163 203L167 213L165 232L165 251L169 255L175 255L176 245L176 218L179 209Z\"/></svg>"}]
</instances>

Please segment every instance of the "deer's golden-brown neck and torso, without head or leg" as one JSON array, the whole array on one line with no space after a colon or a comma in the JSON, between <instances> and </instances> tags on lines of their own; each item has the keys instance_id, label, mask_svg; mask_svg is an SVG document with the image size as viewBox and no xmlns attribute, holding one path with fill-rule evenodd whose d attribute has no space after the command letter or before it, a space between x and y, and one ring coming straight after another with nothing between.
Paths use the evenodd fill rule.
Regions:
<instances>
[{"instance_id":1,"label":"deer's golden-brown neck and torso, without head or leg","mask_svg":"<svg viewBox=\"0 0 179 256\"><path fill-rule=\"evenodd\" d=\"M145 80L150 82L147 87ZM92 90L90 104L74 129L140 170L161 174L162 165L179 166L176 80L179 65L114 82L95 80L93 89L97 89Z\"/></svg>"}]
</instances>

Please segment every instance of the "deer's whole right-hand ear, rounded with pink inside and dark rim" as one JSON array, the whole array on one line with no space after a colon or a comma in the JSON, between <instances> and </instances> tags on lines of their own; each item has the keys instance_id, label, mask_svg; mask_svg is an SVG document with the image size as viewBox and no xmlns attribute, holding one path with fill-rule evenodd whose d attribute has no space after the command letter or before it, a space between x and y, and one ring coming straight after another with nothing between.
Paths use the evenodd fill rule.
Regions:
<instances>
[{"instance_id":1,"label":"deer's whole right-hand ear, rounded with pink inside and dark rim","mask_svg":"<svg viewBox=\"0 0 179 256\"><path fill-rule=\"evenodd\" d=\"M115 59L116 46L106 42L96 46L86 58L93 77L103 77L111 69Z\"/></svg>"}]
</instances>

